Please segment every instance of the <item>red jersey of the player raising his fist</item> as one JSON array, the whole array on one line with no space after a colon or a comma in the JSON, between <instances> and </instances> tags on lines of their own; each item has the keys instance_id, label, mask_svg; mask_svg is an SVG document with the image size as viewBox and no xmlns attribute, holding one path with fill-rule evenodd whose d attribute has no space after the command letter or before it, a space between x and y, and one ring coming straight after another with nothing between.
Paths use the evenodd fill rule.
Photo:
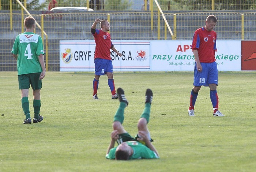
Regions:
<instances>
[{"instance_id":1,"label":"red jersey of the player raising his fist","mask_svg":"<svg viewBox=\"0 0 256 172\"><path fill-rule=\"evenodd\" d=\"M113 46L113 44L111 42L110 33L96 29L93 36L96 43L94 59L102 58L111 60L110 48Z\"/></svg>"}]
</instances>

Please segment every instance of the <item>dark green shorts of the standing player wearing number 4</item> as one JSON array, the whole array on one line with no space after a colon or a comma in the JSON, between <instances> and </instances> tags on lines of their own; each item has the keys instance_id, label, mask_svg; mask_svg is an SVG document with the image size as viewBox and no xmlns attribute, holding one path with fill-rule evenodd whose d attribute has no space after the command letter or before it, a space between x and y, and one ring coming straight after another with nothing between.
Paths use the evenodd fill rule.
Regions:
<instances>
[{"instance_id":1,"label":"dark green shorts of the standing player wearing number 4","mask_svg":"<svg viewBox=\"0 0 256 172\"><path fill-rule=\"evenodd\" d=\"M18 75L19 89L29 89L30 85L33 90L42 88L42 80L39 80L41 73L28 73Z\"/></svg>"}]
</instances>

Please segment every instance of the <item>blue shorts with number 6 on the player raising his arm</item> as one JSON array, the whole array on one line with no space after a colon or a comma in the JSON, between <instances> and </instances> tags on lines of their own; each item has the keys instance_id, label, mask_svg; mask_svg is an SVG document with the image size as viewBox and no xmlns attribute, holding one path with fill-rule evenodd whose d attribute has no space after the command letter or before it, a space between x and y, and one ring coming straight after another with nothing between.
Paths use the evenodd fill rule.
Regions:
<instances>
[{"instance_id":1,"label":"blue shorts with number 6 on the player raising his arm","mask_svg":"<svg viewBox=\"0 0 256 172\"><path fill-rule=\"evenodd\" d=\"M106 72L113 73L112 60L95 58L94 59L94 67L95 67L96 75L103 75L103 74L106 74Z\"/></svg>"}]
</instances>

